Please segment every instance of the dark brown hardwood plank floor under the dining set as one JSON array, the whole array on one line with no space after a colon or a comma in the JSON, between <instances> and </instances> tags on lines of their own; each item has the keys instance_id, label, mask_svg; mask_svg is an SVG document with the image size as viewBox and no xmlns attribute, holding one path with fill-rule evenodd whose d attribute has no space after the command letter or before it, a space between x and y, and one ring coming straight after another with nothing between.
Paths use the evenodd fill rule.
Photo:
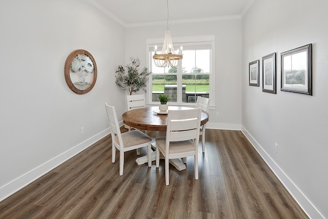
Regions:
<instances>
[{"instance_id":1,"label":"dark brown hardwood plank floor under the dining set","mask_svg":"<svg viewBox=\"0 0 328 219\"><path fill-rule=\"evenodd\" d=\"M240 131L208 129L205 148L199 180L188 157L166 186L164 161L138 166L135 151L119 176L108 135L0 202L0 218L308 218Z\"/></svg>"}]
</instances>

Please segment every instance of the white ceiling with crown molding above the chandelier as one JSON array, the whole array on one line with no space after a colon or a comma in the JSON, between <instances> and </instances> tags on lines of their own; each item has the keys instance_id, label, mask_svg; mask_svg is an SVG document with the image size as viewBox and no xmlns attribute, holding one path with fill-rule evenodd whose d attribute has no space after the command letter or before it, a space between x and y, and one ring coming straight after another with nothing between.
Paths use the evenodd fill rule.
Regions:
<instances>
[{"instance_id":1,"label":"white ceiling with crown molding above the chandelier","mask_svg":"<svg viewBox=\"0 0 328 219\"><path fill-rule=\"evenodd\" d=\"M125 27L166 24L167 0L87 0ZM254 0L170 0L169 23L241 18Z\"/></svg>"}]
</instances>

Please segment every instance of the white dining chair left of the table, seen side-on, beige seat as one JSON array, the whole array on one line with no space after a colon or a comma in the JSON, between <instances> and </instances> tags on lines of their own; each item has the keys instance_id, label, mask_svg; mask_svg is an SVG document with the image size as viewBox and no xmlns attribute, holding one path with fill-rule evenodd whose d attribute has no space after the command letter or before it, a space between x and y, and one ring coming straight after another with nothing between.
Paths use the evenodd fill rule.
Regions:
<instances>
[{"instance_id":1,"label":"white dining chair left of the table, seen side-on, beige seat","mask_svg":"<svg viewBox=\"0 0 328 219\"><path fill-rule=\"evenodd\" d=\"M119 150L119 175L123 175L124 152L147 146L148 166L151 167L152 138L140 130L121 133L114 106L105 103L112 135L112 163L115 163L116 148Z\"/></svg>"}]
</instances>

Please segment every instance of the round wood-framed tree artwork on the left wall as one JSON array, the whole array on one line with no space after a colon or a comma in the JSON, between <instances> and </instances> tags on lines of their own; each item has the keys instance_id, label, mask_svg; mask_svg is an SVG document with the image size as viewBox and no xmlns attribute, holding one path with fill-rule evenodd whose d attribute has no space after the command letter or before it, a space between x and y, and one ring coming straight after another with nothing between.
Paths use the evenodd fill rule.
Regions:
<instances>
[{"instance_id":1,"label":"round wood-framed tree artwork on the left wall","mask_svg":"<svg viewBox=\"0 0 328 219\"><path fill-rule=\"evenodd\" d=\"M85 94L96 83L97 65L90 52L78 49L67 57L64 73L68 87L77 94Z\"/></svg>"}]
</instances>

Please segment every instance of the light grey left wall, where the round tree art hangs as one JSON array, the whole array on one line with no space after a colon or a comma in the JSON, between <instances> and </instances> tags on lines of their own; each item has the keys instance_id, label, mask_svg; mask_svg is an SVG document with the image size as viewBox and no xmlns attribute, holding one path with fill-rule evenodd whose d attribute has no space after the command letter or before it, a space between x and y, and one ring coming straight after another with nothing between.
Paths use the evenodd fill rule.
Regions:
<instances>
[{"instance_id":1,"label":"light grey left wall, where the round tree art hangs","mask_svg":"<svg viewBox=\"0 0 328 219\"><path fill-rule=\"evenodd\" d=\"M85 0L1 1L0 21L1 201L109 133L104 103L124 112L114 75L125 62L125 29ZM83 95L64 77L76 49L98 68Z\"/></svg>"}]
</instances>

